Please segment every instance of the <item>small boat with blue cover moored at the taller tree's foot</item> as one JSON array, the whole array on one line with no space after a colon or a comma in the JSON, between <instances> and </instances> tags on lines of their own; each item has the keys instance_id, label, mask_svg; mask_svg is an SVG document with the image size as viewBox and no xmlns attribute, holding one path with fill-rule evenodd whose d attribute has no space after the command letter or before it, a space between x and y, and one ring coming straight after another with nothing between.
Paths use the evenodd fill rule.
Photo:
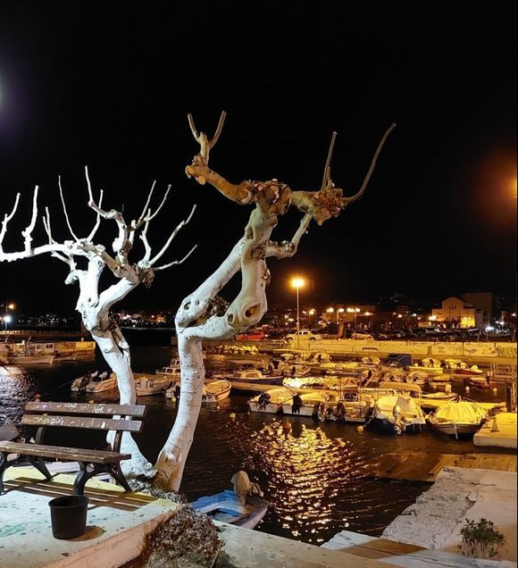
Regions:
<instances>
[{"instance_id":1,"label":"small boat with blue cover moored at the taller tree's foot","mask_svg":"<svg viewBox=\"0 0 518 568\"><path fill-rule=\"evenodd\" d=\"M198 513L205 513L214 521L228 522L243 529L254 529L268 510L268 501L257 495L246 497L246 504L241 505L238 495L225 489L221 493L199 497L191 504Z\"/></svg>"}]
</instances>

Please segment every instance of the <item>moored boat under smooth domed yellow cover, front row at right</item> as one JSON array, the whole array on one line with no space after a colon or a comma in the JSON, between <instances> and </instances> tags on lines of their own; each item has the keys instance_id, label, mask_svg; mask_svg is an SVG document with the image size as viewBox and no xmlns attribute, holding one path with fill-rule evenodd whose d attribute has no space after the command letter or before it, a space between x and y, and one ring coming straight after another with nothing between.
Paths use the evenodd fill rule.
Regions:
<instances>
[{"instance_id":1,"label":"moored boat under smooth domed yellow cover, front row at right","mask_svg":"<svg viewBox=\"0 0 518 568\"><path fill-rule=\"evenodd\" d=\"M455 436L474 434L488 420L488 411L475 402L452 401L440 406L426 417L430 426L443 434Z\"/></svg>"}]
</instances>

